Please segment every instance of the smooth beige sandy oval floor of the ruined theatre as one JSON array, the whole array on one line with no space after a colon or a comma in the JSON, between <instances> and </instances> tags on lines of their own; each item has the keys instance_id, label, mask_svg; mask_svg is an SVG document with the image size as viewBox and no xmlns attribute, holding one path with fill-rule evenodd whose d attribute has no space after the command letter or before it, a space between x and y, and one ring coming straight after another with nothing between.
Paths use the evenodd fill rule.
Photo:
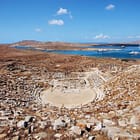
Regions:
<instances>
[{"instance_id":1,"label":"smooth beige sandy oval floor of the ruined theatre","mask_svg":"<svg viewBox=\"0 0 140 140\"><path fill-rule=\"evenodd\" d=\"M57 107L73 108L93 101L96 93L93 89L86 88L77 92L63 93L61 90L45 90L40 95L43 104L51 104Z\"/></svg>"}]
</instances>

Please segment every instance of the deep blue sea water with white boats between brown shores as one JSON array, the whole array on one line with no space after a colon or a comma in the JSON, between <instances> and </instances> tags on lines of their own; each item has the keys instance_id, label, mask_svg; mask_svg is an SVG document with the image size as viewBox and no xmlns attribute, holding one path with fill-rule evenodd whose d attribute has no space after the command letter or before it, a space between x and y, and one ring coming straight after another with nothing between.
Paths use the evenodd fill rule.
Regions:
<instances>
[{"instance_id":1,"label":"deep blue sea water with white boats between brown shores","mask_svg":"<svg viewBox=\"0 0 140 140\"><path fill-rule=\"evenodd\" d=\"M16 46L18 49L33 49L32 47ZM119 49L108 51L97 50L40 50L49 53L67 54L67 55L82 55L90 57L111 57L111 58L129 58L140 59L140 46L88 46L86 48L99 48L99 49Z\"/></svg>"}]
</instances>

